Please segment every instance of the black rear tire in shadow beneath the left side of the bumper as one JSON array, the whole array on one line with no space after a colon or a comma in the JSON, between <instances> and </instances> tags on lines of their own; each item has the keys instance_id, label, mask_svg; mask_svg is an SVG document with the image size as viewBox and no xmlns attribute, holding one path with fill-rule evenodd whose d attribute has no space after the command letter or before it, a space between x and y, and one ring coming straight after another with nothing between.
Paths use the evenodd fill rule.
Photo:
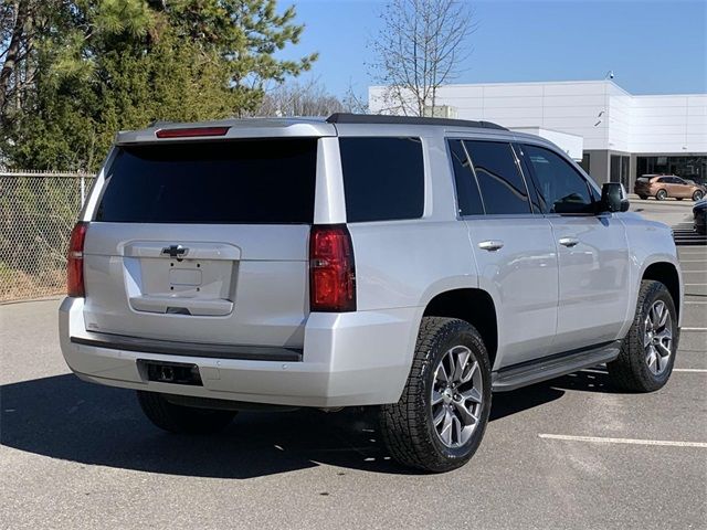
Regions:
<instances>
[{"instance_id":1,"label":"black rear tire in shadow beneath the left side of the bumper","mask_svg":"<svg viewBox=\"0 0 707 530\"><path fill-rule=\"evenodd\" d=\"M177 405L158 392L138 390L137 399L147 418L170 433L217 433L225 428L236 414L235 411Z\"/></svg>"}]
</instances>

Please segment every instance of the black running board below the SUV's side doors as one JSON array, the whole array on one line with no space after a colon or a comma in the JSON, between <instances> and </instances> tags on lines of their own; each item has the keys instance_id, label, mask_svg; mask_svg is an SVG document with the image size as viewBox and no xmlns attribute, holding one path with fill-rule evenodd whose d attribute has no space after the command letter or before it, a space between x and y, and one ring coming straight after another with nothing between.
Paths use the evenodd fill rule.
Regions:
<instances>
[{"instance_id":1,"label":"black running board below the SUV's side doors","mask_svg":"<svg viewBox=\"0 0 707 530\"><path fill-rule=\"evenodd\" d=\"M508 392L529 384L559 378L583 368L610 362L619 357L621 341L615 340L582 350L572 350L534 361L513 364L492 374L492 390Z\"/></svg>"}]
</instances>

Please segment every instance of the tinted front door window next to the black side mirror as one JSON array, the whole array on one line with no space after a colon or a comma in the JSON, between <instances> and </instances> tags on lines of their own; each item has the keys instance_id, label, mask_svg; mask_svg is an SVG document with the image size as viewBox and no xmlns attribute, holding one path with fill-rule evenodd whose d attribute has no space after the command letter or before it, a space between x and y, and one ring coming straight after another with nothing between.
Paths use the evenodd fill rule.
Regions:
<instances>
[{"instance_id":1,"label":"tinted front door window next to the black side mirror","mask_svg":"<svg viewBox=\"0 0 707 530\"><path fill-rule=\"evenodd\" d=\"M559 155L536 146L523 147L549 213L593 213L584 178Z\"/></svg>"}]
</instances>

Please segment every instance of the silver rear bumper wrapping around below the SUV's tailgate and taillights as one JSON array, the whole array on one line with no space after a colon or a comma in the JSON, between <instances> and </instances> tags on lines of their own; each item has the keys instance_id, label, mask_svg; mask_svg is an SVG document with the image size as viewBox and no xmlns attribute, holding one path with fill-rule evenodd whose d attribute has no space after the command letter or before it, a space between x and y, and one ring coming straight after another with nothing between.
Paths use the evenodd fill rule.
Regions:
<instances>
[{"instance_id":1,"label":"silver rear bumper wrapping around below the SUV's tailgate and taillights","mask_svg":"<svg viewBox=\"0 0 707 530\"><path fill-rule=\"evenodd\" d=\"M213 357L207 351L156 352L149 342L145 349L150 351L140 351L136 346L139 341L129 340L106 343L105 336L85 330L83 301L64 299L59 321L64 359L86 381L199 398L318 407L397 402L410 372L415 322L422 315L422 308L310 314L302 361L275 361ZM203 386L147 381L138 370L138 359L197 364Z\"/></svg>"}]
</instances>

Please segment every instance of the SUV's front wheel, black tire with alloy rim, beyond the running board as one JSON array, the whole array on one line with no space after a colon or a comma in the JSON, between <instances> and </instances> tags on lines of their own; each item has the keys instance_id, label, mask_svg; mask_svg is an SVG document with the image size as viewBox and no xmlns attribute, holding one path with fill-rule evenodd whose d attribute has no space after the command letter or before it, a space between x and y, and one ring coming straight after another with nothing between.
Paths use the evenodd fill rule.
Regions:
<instances>
[{"instance_id":1,"label":"SUV's front wheel, black tire with alloy rim, beyond the running board","mask_svg":"<svg viewBox=\"0 0 707 530\"><path fill-rule=\"evenodd\" d=\"M657 327L652 327L650 324L661 320L656 317L657 312L652 311L654 307L661 305L668 311L663 329L669 331L669 344L664 342L665 337L663 340L654 338L654 335L664 335L659 322ZM653 328L648 336L652 341L645 347L644 343L648 340L646 330L650 328ZM663 342L664 347L654 346L655 340ZM621 344L621 352L616 360L606 363L611 381L615 386L631 392L653 392L663 388L673 372L678 340L677 312L667 287L661 282L643 280L639 292L636 315L629 335ZM648 348L653 348L655 358ZM654 363L651 363L651 360ZM655 371L656 367L659 369L658 372Z\"/></svg>"}]
</instances>

